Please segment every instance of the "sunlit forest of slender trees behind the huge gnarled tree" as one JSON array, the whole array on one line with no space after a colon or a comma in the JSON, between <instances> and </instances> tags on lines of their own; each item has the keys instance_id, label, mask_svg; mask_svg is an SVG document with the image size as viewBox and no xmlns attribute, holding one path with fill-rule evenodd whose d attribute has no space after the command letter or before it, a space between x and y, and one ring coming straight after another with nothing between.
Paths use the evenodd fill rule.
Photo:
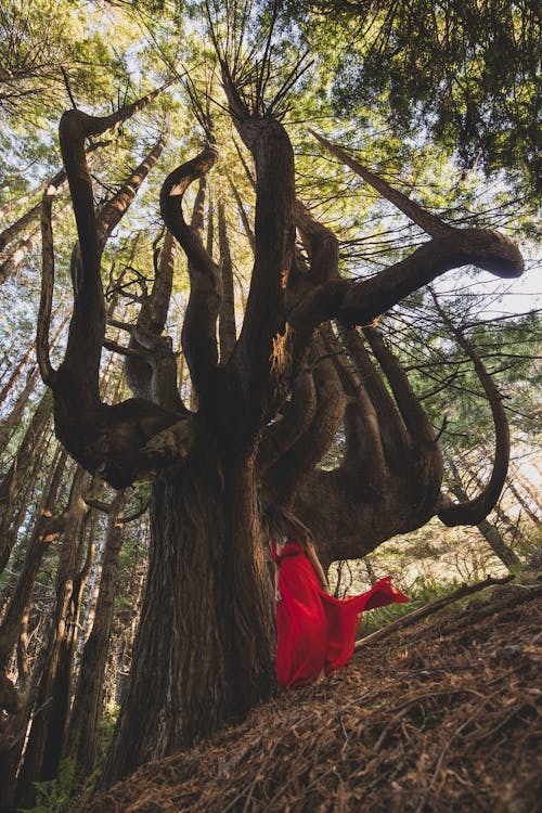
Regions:
<instances>
[{"instance_id":1,"label":"sunlit forest of slender trees behind the huge gnarled tree","mask_svg":"<svg viewBox=\"0 0 542 813\"><path fill-rule=\"evenodd\" d=\"M377 322L438 437L453 500L474 500L493 468L495 415L479 365L511 430L509 468L487 517L452 528L434 517L375 550L367 545L363 558L326 553L336 595L391 573L416 604L459 581L516 572L540 545L540 37L529 2L421 0L10 0L0 10L0 35L2 758L9 805L15 798L30 806L34 783L56 776L66 758L79 776L103 765L104 732L111 735L126 697L152 526L147 480L113 489L56 439L51 390L37 364L44 192L54 232L53 366L65 356L73 312L77 231L61 172L62 114L105 117L158 89L87 142L93 203L103 218L108 324L100 386L108 403L129 396L134 373L124 363L141 360L144 325L137 346L126 325L138 320L167 262L171 296L162 327L181 398L197 410L181 338L196 275L186 272L173 241L164 248L158 198L166 176L206 141L217 145L219 159L204 190L188 189L184 206L229 292L219 322L221 358L241 330L256 241L254 165L221 87L220 53L241 54L237 88L260 115L284 125L297 195L336 235L343 278L376 278L426 236L348 159L442 221L498 229L520 246L521 279L495 279L462 263L461 272L409 293ZM129 201L119 206L127 182ZM298 249L310 258L307 241ZM341 352L340 325L333 331L318 357L324 363ZM382 370L384 351L375 341L370 356ZM351 371L341 375L353 386ZM319 470L345 460L348 431L338 420ZM392 612L375 614L374 623Z\"/></svg>"}]
</instances>

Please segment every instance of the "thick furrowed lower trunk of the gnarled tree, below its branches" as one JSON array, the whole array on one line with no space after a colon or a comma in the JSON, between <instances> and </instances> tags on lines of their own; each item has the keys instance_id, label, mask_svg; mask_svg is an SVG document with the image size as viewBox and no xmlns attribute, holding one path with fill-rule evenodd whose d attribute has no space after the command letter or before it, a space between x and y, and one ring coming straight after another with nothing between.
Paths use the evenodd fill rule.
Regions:
<instances>
[{"instance_id":1,"label":"thick furrowed lower trunk of the gnarled tree, below its branches","mask_svg":"<svg viewBox=\"0 0 542 813\"><path fill-rule=\"evenodd\" d=\"M251 465L194 454L154 483L151 522L130 685L102 788L209 735L273 686L271 581Z\"/></svg>"}]
</instances>

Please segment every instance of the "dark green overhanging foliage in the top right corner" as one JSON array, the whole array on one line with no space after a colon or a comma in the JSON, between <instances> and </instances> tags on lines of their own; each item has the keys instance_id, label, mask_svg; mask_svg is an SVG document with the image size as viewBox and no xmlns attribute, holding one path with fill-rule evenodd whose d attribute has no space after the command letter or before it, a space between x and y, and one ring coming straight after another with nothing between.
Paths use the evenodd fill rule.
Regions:
<instances>
[{"instance_id":1,"label":"dark green overhanging foliage in the top right corner","mask_svg":"<svg viewBox=\"0 0 542 813\"><path fill-rule=\"evenodd\" d=\"M291 0L285 14L335 76L337 114L363 122L378 111L396 134L540 192L540 20L528 0Z\"/></svg>"}]
</instances>

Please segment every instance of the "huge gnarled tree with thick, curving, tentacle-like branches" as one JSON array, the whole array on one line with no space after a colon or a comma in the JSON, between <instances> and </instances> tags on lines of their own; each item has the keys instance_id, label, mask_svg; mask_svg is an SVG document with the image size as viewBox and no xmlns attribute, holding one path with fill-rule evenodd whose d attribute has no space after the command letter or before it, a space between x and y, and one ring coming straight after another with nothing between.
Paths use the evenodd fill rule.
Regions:
<instances>
[{"instance_id":1,"label":"huge gnarled tree with thick, curving, tentacle-like branches","mask_svg":"<svg viewBox=\"0 0 542 813\"><path fill-rule=\"evenodd\" d=\"M281 124L288 88L302 64L270 91L269 41L260 61L244 61L241 43L222 39L216 23L211 36L225 104L256 168L255 258L243 323L233 336L223 234L220 266L204 246L201 219L205 178L218 149L209 112L193 94L207 142L197 157L166 178L160 208L188 258L182 349L197 411L180 398L171 343L163 335L171 292L170 237L156 259L153 287L141 297L136 323L120 325L130 336L128 347L113 347L105 338L103 235L85 141L117 127L149 99L105 117L77 109L62 117L61 150L79 249L72 266L74 314L57 369L47 346L53 271L50 197L42 209L38 358L53 393L56 434L83 468L114 488L154 477L141 625L105 785L209 734L270 692L274 635L259 533L262 503L280 500L295 506L319 528L322 557L330 563L359 557L435 514L451 525L478 522L498 499L505 476L500 449L496 474L479 499L452 505L441 495L436 434L399 363L367 325L465 263L505 278L518 275L522 261L516 246L495 232L449 225L363 169L364 179L429 240L372 279L341 278L336 236L296 198L294 154ZM188 224L181 205L195 181L195 216ZM334 325L349 328L343 339ZM365 326L363 334L356 325ZM113 405L103 402L99 389L105 343L126 356L134 393ZM315 468L341 427L346 450L339 466Z\"/></svg>"}]
</instances>

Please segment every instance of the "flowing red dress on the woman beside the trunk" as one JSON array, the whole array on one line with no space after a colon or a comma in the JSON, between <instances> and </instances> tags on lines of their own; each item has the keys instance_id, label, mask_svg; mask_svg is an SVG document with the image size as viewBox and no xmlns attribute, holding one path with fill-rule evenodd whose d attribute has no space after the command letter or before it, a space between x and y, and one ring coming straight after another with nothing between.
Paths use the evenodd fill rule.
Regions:
<instances>
[{"instance_id":1,"label":"flowing red dress on the woman beside the trunk","mask_svg":"<svg viewBox=\"0 0 542 813\"><path fill-rule=\"evenodd\" d=\"M280 555L271 540L271 555L279 565L276 603L276 678L281 686L311 683L324 669L331 674L344 667L353 645L363 610L403 603L409 598L386 576L367 593L334 598L320 586L302 545L286 541Z\"/></svg>"}]
</instances>

